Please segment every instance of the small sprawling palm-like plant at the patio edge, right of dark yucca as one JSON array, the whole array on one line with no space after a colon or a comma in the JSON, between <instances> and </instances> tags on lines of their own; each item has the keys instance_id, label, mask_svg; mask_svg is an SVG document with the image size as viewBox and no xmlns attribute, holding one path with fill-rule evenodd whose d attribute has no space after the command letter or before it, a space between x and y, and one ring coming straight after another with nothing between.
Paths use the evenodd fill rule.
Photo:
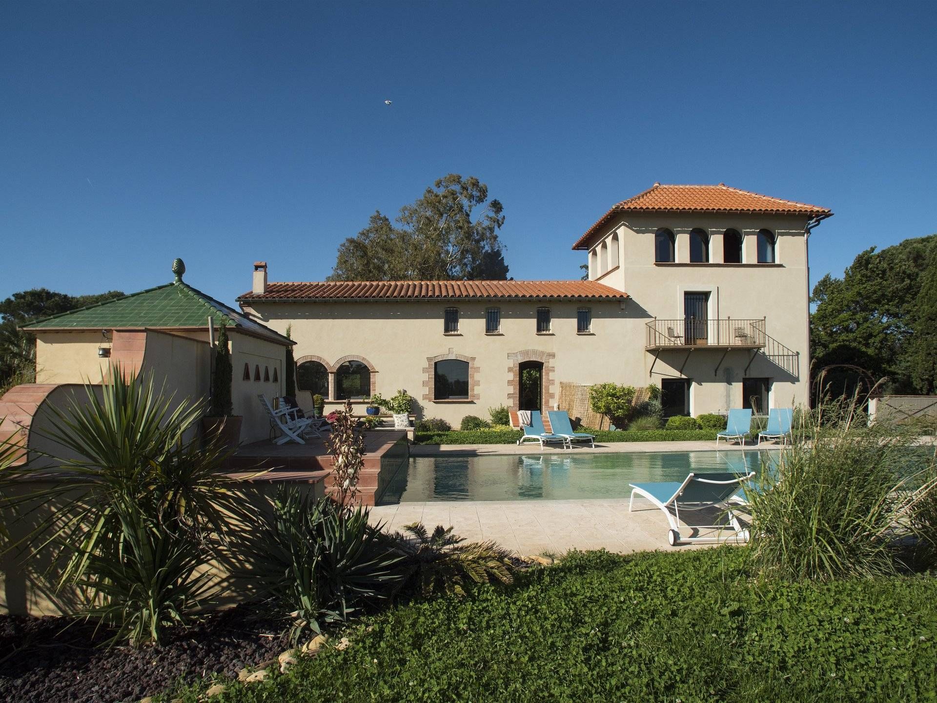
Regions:
<instances>
[{"instance_id":1,"label":"small sprawling palm-like plant at the patio edge, right of dark yucca","mask_svg":"<svg viewBox=\"0 0 937 703\"><path fill-rule=\"evenodd\" d=\"M453 528L437 525L430 534L422 522L395 533L396 548L407 555L412 588L420 595L465 595L468 582L512 583L510 552L494 542L465 542Z\"/></svg>"}]
</instances>

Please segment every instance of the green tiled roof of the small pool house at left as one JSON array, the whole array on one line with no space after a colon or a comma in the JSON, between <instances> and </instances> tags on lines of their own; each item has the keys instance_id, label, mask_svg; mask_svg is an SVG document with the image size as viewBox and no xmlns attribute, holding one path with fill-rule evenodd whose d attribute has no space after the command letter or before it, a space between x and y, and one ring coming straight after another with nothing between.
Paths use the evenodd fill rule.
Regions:
<instances>
[{"instance_id":1,"label":"green tiled roof of the small pool house at left","mask_svg":"<svg viewBox=\"0 0 937 703\"><path fill-rule=\"evenodd\" d=\"M225 325L280 344L292 344L279 332L205 295L181 280L116 300L106 300L23 325L23 330L106 330L126 328L207 327L208 316Z\"/></svg>"}]
</instances>

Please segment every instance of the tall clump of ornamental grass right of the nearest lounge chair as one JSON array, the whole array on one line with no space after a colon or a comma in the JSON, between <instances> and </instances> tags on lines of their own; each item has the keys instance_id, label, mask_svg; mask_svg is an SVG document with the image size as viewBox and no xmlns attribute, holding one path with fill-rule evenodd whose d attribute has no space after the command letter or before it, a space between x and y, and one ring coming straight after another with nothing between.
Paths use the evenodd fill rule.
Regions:
<instances>
[{"instance_id":1,"label":"tall clump of ornamental grass right of the nearest lounge chair","mask_svg":"<svg viewBox=\"0 0 937 703\"><path fill-rule=\"evenodd\" d=\"M837 579L894 573L914 437L869 424L862 399L799 414L793 443L750 491L751 559L763 573Z\"/></svg>"}]
</instances>

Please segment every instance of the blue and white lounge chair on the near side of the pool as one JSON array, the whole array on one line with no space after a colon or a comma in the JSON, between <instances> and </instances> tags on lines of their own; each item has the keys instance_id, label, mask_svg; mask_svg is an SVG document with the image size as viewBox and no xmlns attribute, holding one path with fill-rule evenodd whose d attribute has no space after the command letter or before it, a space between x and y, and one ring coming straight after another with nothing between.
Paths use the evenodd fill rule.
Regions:
<instances>
[{"instance_id":1,"label":"blue and white lounge chair on the near side of the pool","mask_svg":"<svg viewBox=\"0 0 937 703\"><path fill-rule=\"evenodd\" d=\"M670 523L667 531L667 542L671 547L680 542L748 542L749 531L743 528L732 511L729 499L735 495L739 486L748 481L755 473L749 474L694 474L691 473L683 482L662 481L660 483L632 483L632 499L628 504L631 511L634 505L634 494L641 495L651 503L663 510ZM692 525L693 529L703 528L723 530L731 528L733 534L728 537L681 537L680 536L680 509L703 510L710 507L723 507L728 516L728 525Z\"/></svg>"}]
</instances>

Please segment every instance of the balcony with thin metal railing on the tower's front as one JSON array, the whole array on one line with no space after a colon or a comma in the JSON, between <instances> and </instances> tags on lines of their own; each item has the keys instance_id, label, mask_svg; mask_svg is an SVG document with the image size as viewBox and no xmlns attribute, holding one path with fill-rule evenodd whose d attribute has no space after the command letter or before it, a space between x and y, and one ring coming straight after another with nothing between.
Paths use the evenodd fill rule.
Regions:
<instances>
[{"instance_id":1,"label":"balcony with thin metal railing on the tower's front","mask_svg":"<svg viewBox=\"0 0 937 703\"><path fill-rule=\"evenodd\" d=\"M764 349L765 320L653 319L647 323L647 351L662 349Z\"/></svg>"}]
</instances>

